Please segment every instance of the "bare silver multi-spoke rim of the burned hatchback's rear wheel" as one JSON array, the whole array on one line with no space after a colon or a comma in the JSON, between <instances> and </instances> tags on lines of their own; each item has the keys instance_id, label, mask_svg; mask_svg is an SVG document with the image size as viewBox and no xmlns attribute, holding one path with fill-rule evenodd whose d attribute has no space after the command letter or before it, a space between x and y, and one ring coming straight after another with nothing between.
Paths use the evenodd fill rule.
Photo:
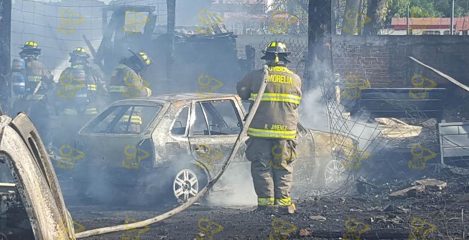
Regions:
<instances>
[{"instance_id":1,"label":"bare silver multi-spoke rim of the burned hatchback's rear wheel","mask_svg":"<svg viewBox=\"0 0 469 240\"><path fill-rule=\"evenodd\" d=\"M180 202L187 202L198 193L198 179L194 171L183 169L173 181L173 194Z\"/></svg>"}]
</instances>

